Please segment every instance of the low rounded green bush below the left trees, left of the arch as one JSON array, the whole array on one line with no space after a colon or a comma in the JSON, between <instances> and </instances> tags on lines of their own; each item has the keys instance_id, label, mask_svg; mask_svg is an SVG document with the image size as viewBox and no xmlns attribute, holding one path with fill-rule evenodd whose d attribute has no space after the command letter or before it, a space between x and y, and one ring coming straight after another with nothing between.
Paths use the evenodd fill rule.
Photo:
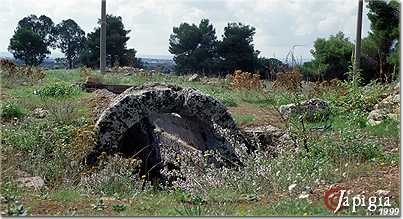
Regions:
<instances>
[{"instance_id":1,"label":"low rounded green bush below the left trees, left of the arch","mask_svg":"<svg viewBox=\"0 0 403 219\"><path fill-rule=\"evenodd\" d=\"M35 94L40 97L70 97L78 95L79 92L80 90L77 85L57 82L54 84L47 84L35 91Z\"/></svg>"}]
</instances>

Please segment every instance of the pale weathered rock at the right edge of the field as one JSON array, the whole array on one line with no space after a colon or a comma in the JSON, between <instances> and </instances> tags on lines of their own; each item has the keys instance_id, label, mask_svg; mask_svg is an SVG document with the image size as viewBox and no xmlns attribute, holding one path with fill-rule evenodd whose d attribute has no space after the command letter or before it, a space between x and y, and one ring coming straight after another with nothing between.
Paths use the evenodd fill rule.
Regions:
<instances>
[{"instance_id":1,"label":"pale weathered rock at the right edge of the field","mask_svg":"<svg viewBox=\"0 0 403 219\"><path fill-rule=\"evenodd\" d=\"M396 86L394 91L375 105L368 115L368 124L371 126L381 124L385 119L390 118L396 121L400 119L400 86Z\"/></svg>"}]
</instances>

